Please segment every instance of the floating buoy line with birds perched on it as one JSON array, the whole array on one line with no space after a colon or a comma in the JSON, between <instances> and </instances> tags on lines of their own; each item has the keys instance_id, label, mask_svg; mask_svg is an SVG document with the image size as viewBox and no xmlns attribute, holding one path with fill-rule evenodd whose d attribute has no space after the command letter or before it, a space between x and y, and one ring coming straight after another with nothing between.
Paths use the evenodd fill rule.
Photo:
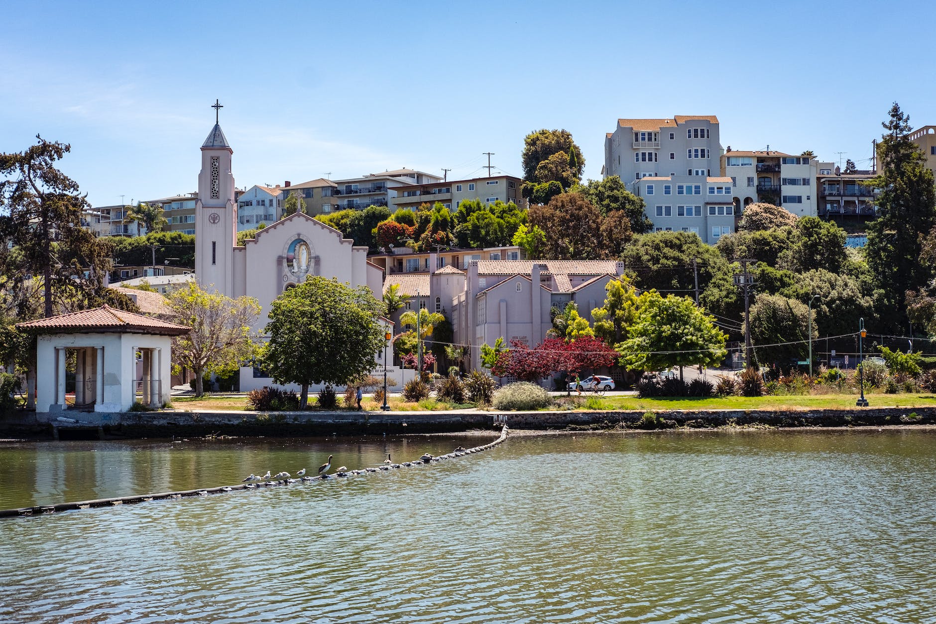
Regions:
<instances>
[{"instance_id":1,"label":"floating buoy line with birds perched on it","mask_svg":"<svg viewBox=\"0 0 936 624\"><path fill-rule=\"evenodd\" d=\"M18 509L3 509L0 510L0 517L20 517L24 515L51 515L59 512L71 512L78 511L80 509L95 509L98 507L116 507L118 505L129 505L136 504L138 502L149 502L149 501L171 501L173 499L183 499L190 497L198 496L208 496L210 494L227 494L228 492L237 492L241 490L253 490L261 489L264 487L277 487L277 486L289 486L296 483L310 483L312 481L322 481L330 479L341 479L357 475L366 475L373 474L374 472L390 472L394 470L401 470L403 468L413 468L416 466L427 466L431 463L446 461L447 459L455 459L457 457L465 457L467 455L474 455L475 453L480 453L482 451L487 451L494 446L497 446L500 443L503 443L507 439L507 426L501 430L501 435L497 440L487 444L481 444L480 446L475 446L473 448L462 449L461 446L451 453L446 453L446 455L441 455L439 457L434 457L428 453L415 459L413 461L403 461L401 463L384 463L376 468L369 467L363 470L354 470L346 472L335 472L333 474L320 474L317 476L302 476L299 479L284 478L284 479L267 479L261 480L256 483L240 483L236 486L219 486L219 487L203 487L200 489L186 489L178 492L162 492L161 494L143 494L138 496L121 496L113 499L97 499L95 501L79 501L79 502L61 502L55 505L37 505L35 507L20 507ZM344 468L344 466L343 466ZM267 472L265 477L269 477L270 472ZM278 476L278 475L277 475Z\"/></svg>"}]
</instances>

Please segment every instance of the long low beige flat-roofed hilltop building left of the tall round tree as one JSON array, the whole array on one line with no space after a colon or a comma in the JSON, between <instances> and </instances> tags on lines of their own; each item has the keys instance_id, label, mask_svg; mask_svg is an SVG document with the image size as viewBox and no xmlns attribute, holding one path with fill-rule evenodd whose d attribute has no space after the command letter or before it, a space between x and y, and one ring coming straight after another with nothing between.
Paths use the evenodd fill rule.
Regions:
<instances>
[{"instance_id":1,"label":"long low beige flat-roofed hilltop building left of the tall round tree","mask_svg":"<svg viewBox=\"0 0 936 624\"><path fill-rule=\"evenodd\" d=\"M416 210L422 204L439 202L449 210L457 210L466 199L479 199L492 204L503 201L522 205L519 195L521 180L513 176L491 176L472 180L436 181L419 184L412 188L398 189L397 196L390 199L393 208Z\"/></svg>"}]
</instances>

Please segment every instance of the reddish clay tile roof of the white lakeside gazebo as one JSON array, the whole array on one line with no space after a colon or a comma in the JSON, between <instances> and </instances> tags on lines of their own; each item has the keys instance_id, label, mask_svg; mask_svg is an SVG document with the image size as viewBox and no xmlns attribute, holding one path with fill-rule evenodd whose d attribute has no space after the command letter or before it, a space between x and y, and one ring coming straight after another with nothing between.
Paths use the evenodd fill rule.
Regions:
<instances>
[{"instance_id":1,"label":"reddish clay tile roof of the white lakeside gazebo","mask_svg":"<svg viewBox=\"0 0 936 624\"><path fill-rule=\"evenodd\" d=\"M110 306L102 306L93 310L81 312L68 312L51 318L41 318L37 321L19 323L16 327L40 334L56 334L67 332L97 333L97 332L126 332L135 334L161 334L164 336L183 336L192 330L191 327L176 325L160 321L157 318L114 310Z\"/></svg>"}]
</instances>

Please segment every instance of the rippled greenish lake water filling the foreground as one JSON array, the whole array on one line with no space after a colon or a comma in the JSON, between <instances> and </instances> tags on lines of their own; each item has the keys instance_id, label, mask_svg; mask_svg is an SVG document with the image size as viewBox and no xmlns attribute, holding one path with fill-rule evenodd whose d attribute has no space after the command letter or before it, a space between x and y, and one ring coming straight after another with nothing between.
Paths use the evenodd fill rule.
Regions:
<instances>
[{"instance_id":1,"label":"rippled greenish lake water filling the foreground","mask_svg":"<svg viewBox=\"0 0 936 624\"><path fill-rule=\"evenodd\" d=\"M4 443L0 508L478 440ZM936 622L934 443L511 437L420 468L0 519L0 621Z\"/></svg>"}]
</instances>

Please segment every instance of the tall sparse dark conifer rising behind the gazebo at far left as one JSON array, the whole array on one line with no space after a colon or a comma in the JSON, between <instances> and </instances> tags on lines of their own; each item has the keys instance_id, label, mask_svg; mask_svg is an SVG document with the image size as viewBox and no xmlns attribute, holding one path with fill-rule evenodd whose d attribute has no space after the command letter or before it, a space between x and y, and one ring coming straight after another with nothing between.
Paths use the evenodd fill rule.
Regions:
<instances>
[{"instance_id":1,"label":"tall sparse dark conifer rising behind the gazebo at far left","mask_svg":"<svg viewBox=\"0 0 936 624\"><path fill-rule=\"evenodd\" d=\"M70 151L37 136L24 152L0 153L0 240L7 250L17 248L7 256L7 274L41 276L46 317L56 300L100 305L110 290L104 285L110 241L81 225L88 202L78 183L55 168Z\"/></svg>"}]
</instances>

